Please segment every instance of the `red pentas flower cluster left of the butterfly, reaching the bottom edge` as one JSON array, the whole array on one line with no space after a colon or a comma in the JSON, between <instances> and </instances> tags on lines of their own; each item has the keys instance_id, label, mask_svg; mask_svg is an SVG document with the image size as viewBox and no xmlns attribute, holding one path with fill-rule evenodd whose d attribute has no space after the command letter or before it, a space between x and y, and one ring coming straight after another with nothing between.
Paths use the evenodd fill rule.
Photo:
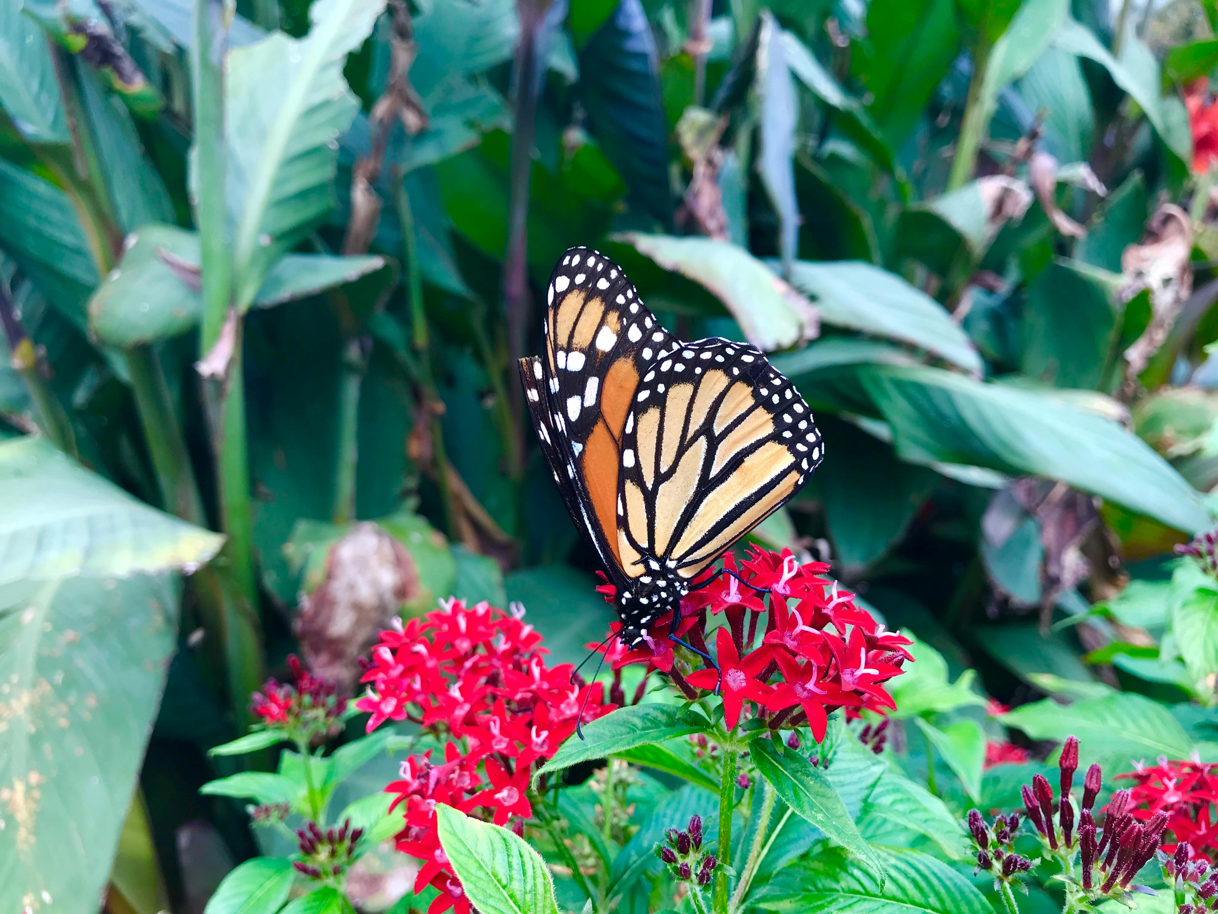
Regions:
<instances>
[{"instance_id":1,"label":"red pentas flower cluster left of the butterfly, reaching the bottom edge","mask_svg":"<svg viewBox=\"0 0 1218 914\"><path fill-rule=\"evenodd\" d=\"M470 905L440 846L436 804L451 806L518 830L532 815L533 767L551 758L581 720L615 706L602 703L599 682L572 678L569 663L547 667L542 636L523 613L459 600L380 634L356 702L371 714L368 731L386 720L410 720L445 741L443 760L429 749L402 763L386 787L406 814L397 848L423 862L415 892L440 896L428 914ZM574 680L574 685L572 685Z\"/></svg>"}]
</instances>

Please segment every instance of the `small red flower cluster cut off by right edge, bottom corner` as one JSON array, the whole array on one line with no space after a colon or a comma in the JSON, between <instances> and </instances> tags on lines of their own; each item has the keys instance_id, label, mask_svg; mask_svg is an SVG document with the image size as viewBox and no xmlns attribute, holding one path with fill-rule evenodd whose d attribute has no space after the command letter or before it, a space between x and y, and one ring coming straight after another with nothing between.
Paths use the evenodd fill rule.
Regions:
<instances>
[{"instance_id":1,"label":"small red flower cluster cut off by right edge, bottom corner","mask_svg":"<svg viewBox=\"0 0 1218 914\"><path fill-rule=\"evenodd\" d=\"M1218 764L1168 760L1166 756L1155 762L1135 763L1133 771L1117 775L1117 780L1135 781L1129 787L1129 814L1139 821L1166 814L1175 842L1188 842L1194 852L1208 852L1213 859L1218 851ZM1174 848L1175 843L1163 845L1164 851Z\"/></svg>"}]
</instances>

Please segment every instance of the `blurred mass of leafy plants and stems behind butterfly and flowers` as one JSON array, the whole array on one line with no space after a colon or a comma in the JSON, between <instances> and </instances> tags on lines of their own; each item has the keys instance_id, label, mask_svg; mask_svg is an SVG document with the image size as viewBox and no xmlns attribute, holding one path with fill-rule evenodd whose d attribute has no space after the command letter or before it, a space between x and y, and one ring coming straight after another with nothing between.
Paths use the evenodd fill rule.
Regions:
<instances>
[{"instance_id":1,"label":"blurred mass of leafy plants and stems behind butterfly and flowers","mask_svg":"<svg viewBox=\"0 0 1218 914\"><path fill-rule=\"evenodd\" d=\"M1112 771L1218 740L1213 542L1172 552L1218 484L1216 26L0 4L6 909L201 910L255 842L197 787L273 763L207 749L292 652L347 693L447 595L521 602L554 662L599 640L513 367L575 244L816 409L828 459L753 536L918 636L877 751L965 808L1068 732Z\"/></svg>"}]
</instances>

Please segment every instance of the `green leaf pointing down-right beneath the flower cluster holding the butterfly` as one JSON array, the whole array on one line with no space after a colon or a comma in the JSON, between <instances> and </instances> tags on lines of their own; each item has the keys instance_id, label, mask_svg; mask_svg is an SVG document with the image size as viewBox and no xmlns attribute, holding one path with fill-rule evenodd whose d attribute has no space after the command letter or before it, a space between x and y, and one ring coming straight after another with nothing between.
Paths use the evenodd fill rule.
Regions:
<instances>
[{"instance_id":1,"label":"green leaf pointing down-right beneath the flower cluster holding the butterfly","mask_svg":"<svg viewBox=\"0 0 1218 914\"><path fill-rule=\"evenodd\" d=\"M750 756L758 767L758 774L773 785L797 815L808 820L837 843L857 854L867 866L884 882L884 864L879 854L872 849L847 812L845 803L834 790L825 771L815 768L804 756L776 748L766 739L755 740Z\"/></svg>"}]
</instances>

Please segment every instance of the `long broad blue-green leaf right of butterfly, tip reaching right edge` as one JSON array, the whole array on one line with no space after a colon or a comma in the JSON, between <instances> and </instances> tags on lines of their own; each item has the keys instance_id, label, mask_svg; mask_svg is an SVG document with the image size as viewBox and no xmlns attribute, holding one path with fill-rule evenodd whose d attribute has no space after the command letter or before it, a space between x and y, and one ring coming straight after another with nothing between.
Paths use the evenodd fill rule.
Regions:
<instances>
[{"instance_id":1,"label":"long broad blue-green leaf right of butterfly, tip reaching right edge","mask_svg":"<svg viewBox=\"0 0 1218 914\"><path fill-rule=\"evenodd\" d=\"M861 380L906 459L1047 476L1188 533L1209 525L1200 495L1110 419L935 368L877 366Z\"/></svg>"}]
</instances>

